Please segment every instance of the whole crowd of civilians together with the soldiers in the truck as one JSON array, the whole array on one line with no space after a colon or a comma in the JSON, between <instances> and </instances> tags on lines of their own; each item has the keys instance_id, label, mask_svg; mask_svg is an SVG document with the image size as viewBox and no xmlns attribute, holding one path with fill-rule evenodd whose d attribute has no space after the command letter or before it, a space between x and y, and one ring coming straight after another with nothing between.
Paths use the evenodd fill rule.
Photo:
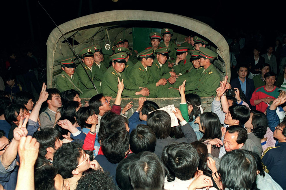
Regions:
<instances>
[{"instance_id":1,"label":"whole crowd of civilians together with the soldiers in the truck","mask_svg":"<svg viewBox=\"0 0 286 190\"><path fill-rule=\"evenodd\" d=\"M190 35L176 45L172 35L150 33L151 47L139 53L124 39L84 48L77 67L75 56L61 58L56 88L32 83L37 101L10 60L0 91L0 189L286 189L282 53L269 46L259 56L255 47L253 60L231 59L237 75L228 82L207 41ZM243 39L230 44L240 60ZM21 75L30 88L37 82L32 66ZM211 112L206 96L214 96ZM121 106L123 97L138 98L130 117L134 102ZM172 110L178 126L151 97L181 98Z\"/></svg>"}]
</instances>

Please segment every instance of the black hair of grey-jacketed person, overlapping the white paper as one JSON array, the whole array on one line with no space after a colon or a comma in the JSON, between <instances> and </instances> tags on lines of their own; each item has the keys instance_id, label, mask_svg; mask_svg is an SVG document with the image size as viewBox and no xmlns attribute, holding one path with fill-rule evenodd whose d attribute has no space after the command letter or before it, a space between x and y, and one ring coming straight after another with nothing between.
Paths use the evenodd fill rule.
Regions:
<instances>
[{"instance_id":1,"label":"black hair of grey-jacketed person, overlapping the white paper","mask_svg":"<svg viewBox=\"0 0 286 190\"><path fill-rule=\"evenodd\" d=\"M171 117L166 111L153 111L147 116L147 126L154 131L156 138L167 138L171 132Z\"/></svg>"}]
</instances>

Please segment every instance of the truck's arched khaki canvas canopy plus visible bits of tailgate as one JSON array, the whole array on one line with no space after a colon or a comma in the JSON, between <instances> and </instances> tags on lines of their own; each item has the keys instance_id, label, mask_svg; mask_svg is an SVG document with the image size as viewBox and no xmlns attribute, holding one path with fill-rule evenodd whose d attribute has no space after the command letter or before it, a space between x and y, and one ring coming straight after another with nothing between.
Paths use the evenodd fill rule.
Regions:
<instances>
[{"instance_id":1,"label":"truck's arched khaki canvas canopy plus visible bits of tailgate","mask_svg":"<svg viewBox=\"0 0 286 190\"><path fill-rule=\"evenodd\" d=\"M207 24L185 16L152 11L115 10L76 18L58 27L68 39L75 52L73 52L59 29L55 28L49 35L46 43L48 88L55 87L55 76L61 72L61 66L57 60L62 57L72 56L75 53L78 54L83 48L94 44L103 47L108 39L111 45L118 38L128 39L129 47L133 49L133 47L136 48L134 39L142 35L141 31L158 32L162 28L173 29L174 34L172 39L178 43L183 42L184 37L190 34L203 37L210 44L208 48L218 53L218 59L215 60L214 65L218 69L221 79L225 75L230 76L230 57L227 41L220 33ZM149 36L146 36L146 41L150 41ZM138 49L138 52L140 51ZM76 63L78 64L79 61L81 60L77 60ZM163 104L170 104L168 99L158 98L158 101L162 104L159 106L162 107ZM212 100L213 97L202 98L203 106L208 111L210 111ZM125 100L122 101L122 105L124 105ZM170 101L173 101L173 104L176 106L180 104L180 98L171 98ZM126 98L126 102L129 102L129 98ZM136 102L135 98L134 107L136 107Z\"/></svg>"}]
</instances>

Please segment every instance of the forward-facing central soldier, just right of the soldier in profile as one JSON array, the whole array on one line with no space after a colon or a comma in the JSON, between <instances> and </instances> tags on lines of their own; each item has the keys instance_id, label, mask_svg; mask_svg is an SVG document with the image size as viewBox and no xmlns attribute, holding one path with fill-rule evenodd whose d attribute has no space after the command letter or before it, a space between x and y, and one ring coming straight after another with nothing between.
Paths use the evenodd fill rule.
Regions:
<instances>
[{"instance_id":1,"label":"forward-facing central soldier, just right of the soldier in profile","mask_svg":"<svg viewBox=\"0 0 286 190\"><path fill-rule=\"evenodd\" d=\"M155 81L159 79L168 79L169 77L176 77L176 73L170 71L169 67L166 63L169 57L169 48L162 47L155 51L157 59L154 60L152 66L150 67L151 74Z\"/></svg>"}]
</instances>

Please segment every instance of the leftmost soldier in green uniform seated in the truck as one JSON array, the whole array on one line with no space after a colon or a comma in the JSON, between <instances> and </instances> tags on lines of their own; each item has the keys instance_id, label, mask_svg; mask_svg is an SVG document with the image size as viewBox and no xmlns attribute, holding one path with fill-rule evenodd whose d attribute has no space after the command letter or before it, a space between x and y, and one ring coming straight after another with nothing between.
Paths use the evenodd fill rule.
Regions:
<instances>
[{"instance_id":1,"label":"leftmost soldier in green uniform seated in the truck","mask_svg":"<svg viewBox=\"0 0 286 190\"><path fill-rule=\"evenodd\" d=\"M74 89L80 93L80 98L91 98L96 91L89 91L81 88L78 75L74 72L76 67L74 63L75 58L75 56L68 56L58 60L58 62L61 63L61 69L63 71L61 71L61 74L57 75L56 87L60 92Z\"/></svg>"}]
</instances>

